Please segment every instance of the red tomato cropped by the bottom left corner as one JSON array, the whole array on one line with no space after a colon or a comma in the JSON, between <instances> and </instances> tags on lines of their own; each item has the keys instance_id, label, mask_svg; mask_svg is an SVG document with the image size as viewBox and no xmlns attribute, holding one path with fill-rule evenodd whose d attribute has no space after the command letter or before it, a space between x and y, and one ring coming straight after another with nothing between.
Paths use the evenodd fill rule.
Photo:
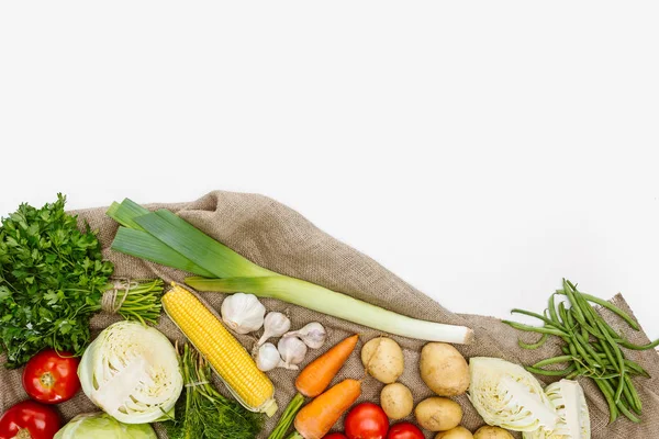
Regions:
<instances>
[{"instance_id":1,"label":"red tomato cropped by the bottom left corner","mask_svg":"<svg viewBox=\"0 0 659 439\"><path fill-rule=\"evenodd\" d=\"M60 426L53 407L23 401L0 418L0 439L53 439Z\"/></svg>"}]
</instances>

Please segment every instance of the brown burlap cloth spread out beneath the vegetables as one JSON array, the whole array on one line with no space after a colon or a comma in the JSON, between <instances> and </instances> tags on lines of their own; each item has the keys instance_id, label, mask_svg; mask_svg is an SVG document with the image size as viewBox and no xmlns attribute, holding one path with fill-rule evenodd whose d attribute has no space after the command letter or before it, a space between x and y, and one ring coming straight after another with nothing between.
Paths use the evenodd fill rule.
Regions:
<instances>
[{"instance_id":1,"label":"brown burlap cloth spread out beneath the vegetables","mask_svg":"<svg viewBox=\"0 0 659 439\"><path fill-rule=\"evenodd\" d=\"M469 326L476 331L476 342L471 346L457 347L467 358L477 356L499 357L509 361L529 364L559 352L557 346L551 344L547 344L537 351L522 350L516 344L521 334L503 325L496 318L450 313L372 259L337 241L317 229L297 212L268 198L254 194L212 192L191 203L150 205L154 209L163 206L178 212L181 217L212 237L270 270L315 282L412 317ZM104 212L105 209L91 209L77 213L81 221L89 222L93 229L99 230L104 256L115 263L116 275L131 278L160 277L166 281L175 280L178 282L183 280L186 273L111 251L109 246L118 225L107 217ZM455 291L447 292L447 294L455 293ZM220 308L223 295L204 293L202 296L209 304L217 309ZM618 295L614 301L618 306L629 311L622 296ZM355 333L361 335L361 342L379 335L378 331L298 306L273 300L264 302L269 311L287 313L291 317L295 329L309 322L321 322L330 333L327 347ZM118 320L116 316L102 314L96 316L92 320L94 335L115 320ZM160 319L159 329L171 339L183 339L180 331L166 316ZM635 342L644 344L648 341L641 333L627 330L627 334ZM522 336L526 337L525 334ZM418 374L418 354L424 342L400 337L394 338L405 352L405 372L400 381L413 391L414 399L418 403L432 395ZM246 347L252 347L255 341L255 338L250 336L241 336L239 339ZM305 362L313 360L320 353L320 351L310 351ZM628 354L629 358L639 362L655 376L649 380L636 380L644 404L644 421L640 425L635 425L626 419L619 419L614 425L607 426L608 409L604 398L592 383L582 380L581 384L588 396L593 438L595 439L659 438L658 354L656 351L628 352ZM11 405L26 398L21 386L20 376L20 370L0 369L0 412L4 412ZM264 438L295 392L293 386L295 372L279 369L270 373L270 378L277 389L276 397L280 412L266 424L266 429L260 436ZM335 381L338 382L345 378L364 378L364 368L358 354L353 354ZM543 381L549 382L548 380ZM364 393L360 401L378 402L381 387L382 385L376 380L367 378L364 381ZM466 396L460 396L457 401L465 409L462 424L474 431L483 424L482 419ZM78 395L72 401L58 406L58 409L67 420L76 414L96 410L94 406L83 395ZM338 423L336 429L340 430L340 428L342 423ZM160 438L166 437L160 428L158 428L158 434ZM428 438L433 437L431 434L426 436ZM516 435L516 437L520 436Z\"/></svg>"}]
</instances>

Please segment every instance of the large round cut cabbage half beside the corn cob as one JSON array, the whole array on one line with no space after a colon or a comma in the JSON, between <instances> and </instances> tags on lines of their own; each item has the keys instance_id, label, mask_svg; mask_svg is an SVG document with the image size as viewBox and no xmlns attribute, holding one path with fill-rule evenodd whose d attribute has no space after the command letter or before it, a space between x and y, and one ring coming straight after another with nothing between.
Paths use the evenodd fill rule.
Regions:
<instances>
[{"instance_id":1,"label":"large round cut cabbage half beside the corn cob","mask_svg":"<svg viewBox=\"0 0 659 439\"><path fill-rule=\"evenodd\" d=\"M174 409L183 378L174 346L136 322L109 326L82 354L78 375L85 394L125 424L147 424Z\"/></svg>"}]
</instances>

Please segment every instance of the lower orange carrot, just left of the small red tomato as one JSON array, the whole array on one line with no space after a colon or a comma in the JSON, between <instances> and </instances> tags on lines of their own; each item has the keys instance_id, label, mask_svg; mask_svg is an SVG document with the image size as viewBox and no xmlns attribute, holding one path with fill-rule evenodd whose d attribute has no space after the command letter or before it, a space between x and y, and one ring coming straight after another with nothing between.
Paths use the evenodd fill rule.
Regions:
<instances>
[{"instance_id":1,"label":"lower orange carrot, just left of the small red tomato","mask_svg":"<svg viewBox=\"0 0 659 439\"><path fill-rule=\"evenodd\" d=\"M304 439L321 439L361 394L361 381L344 380L306 404L295 417L295 430Z\"/></svg>"}]
</instances>

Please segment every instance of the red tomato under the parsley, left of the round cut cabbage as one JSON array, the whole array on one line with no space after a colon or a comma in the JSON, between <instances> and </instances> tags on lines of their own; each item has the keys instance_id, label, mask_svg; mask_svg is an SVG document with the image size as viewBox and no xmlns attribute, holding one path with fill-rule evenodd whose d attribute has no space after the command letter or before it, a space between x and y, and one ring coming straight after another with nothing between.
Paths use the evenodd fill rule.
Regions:
<instances>
[{"instance_id":1,"label":"red tomato under the parsley, left of the round cut cabbage","mask_svg":"<svg viewBox=\"0 0 659 439\"><path fill-rule=\"evenodd\" d=\"M23 387L33 399L59 404L72 398L80 390L80 360L68 352L46 349L32 357L23 371Z\"/></svg>"}]
</instances>

